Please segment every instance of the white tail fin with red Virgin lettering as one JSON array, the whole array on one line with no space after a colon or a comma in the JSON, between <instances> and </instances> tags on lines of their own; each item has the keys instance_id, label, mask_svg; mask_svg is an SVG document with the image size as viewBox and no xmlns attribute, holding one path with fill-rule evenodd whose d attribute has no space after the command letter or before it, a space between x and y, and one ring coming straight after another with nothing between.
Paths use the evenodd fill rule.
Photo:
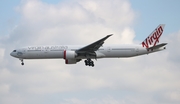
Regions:
<instances>
[{"instance_id":1,"label":"white tail fin with red Virgin lettering","mask_svg":"<svg viewBox=\"0 0 180 104\"><path fill-rule=\"evenodd\" d=\"M146 48L149 48L149 45L156 46L156 44L159 43L159 38L161 37L162 33L163 33L163 27L159 26L150 36L148 36L142 42L142 46Z\"/></svg>"}]
</instances>

